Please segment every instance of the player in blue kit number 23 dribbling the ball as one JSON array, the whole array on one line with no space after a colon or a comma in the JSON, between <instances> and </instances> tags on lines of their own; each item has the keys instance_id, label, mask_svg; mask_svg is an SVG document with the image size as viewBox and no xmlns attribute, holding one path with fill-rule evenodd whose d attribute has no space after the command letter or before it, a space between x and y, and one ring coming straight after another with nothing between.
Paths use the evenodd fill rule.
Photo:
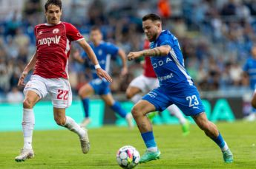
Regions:
<instances>
[{"instance_id":1,"label":"player in blue kit number 23 dribbling the ball","mask_svg":"<svg viewBox=\"0 0 256 169\"><path fill-rule=\"evenodd\" d=\"M216 142L223 153L224 162L233 162L232 152L220 131L206 117L197 87L186 72L177 38L168 30L162 30L161 18L156 14L145 15L142 18L142 28L151 42L151 49L130 52L128 60L151 56L151 63L160 81L160 87L142 97L131 111L147 147L140 162L160 158L160 150L157 148L152 126L146 114L163 111L171 104L177 105L184 114L191 116L199 128Z\"/></svg>"}]
</instances>

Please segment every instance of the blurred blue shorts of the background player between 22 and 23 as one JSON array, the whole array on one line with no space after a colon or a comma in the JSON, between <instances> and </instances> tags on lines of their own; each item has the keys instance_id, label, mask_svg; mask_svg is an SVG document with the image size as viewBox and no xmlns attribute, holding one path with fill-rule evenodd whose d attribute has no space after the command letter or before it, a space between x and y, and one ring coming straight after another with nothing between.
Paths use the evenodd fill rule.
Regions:
<instances>
[{"instance_id":1,"label":"blurred blue shorts of the background player between 22 and 23","mask_svg":"<svg viewBox=\"0 0 256 169\"><path fill-rule=\"evenodd\" d=\"M105 95L111 92L111 89L109 88L110 83L105 79L93 79L89 84L93 88L95 94Z\"/></svg>"}]
</instances>

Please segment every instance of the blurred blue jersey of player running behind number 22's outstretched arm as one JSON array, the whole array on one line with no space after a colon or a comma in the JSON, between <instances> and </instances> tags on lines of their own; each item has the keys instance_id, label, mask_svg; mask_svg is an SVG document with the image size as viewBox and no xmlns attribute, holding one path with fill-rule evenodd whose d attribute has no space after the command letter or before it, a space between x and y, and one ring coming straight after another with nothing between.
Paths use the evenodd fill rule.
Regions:
<instances>
[{"instance_id":1,"label":"blurred blue jersey of player running behind number 22's outstretched arm","mask_svg":"<svg viewBox=\"0 0 256 169\"><path fill-rule=\"evenodd\" d=\"M99 46L94 46L93 43L90 43L90 46L99 61L99 65L102 67L102 69L109 72L111 56L116 56L119 48L114 44L107 43L105 41L102 41ZM88 58L86 52L82 52L82 58ZM89 59L87 59L87 61L93 73L93 79L98 78L93 63Z\"/></svg>"}]
</instances>

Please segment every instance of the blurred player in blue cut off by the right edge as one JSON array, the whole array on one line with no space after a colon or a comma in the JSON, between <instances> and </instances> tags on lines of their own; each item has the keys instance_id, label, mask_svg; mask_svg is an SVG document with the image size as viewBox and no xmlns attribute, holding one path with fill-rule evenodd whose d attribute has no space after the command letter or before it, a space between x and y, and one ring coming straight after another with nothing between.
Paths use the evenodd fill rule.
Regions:
<instances>
[{"instance_id":1,"label":"blurred player in blue cut off by the right edge","mask_svg":"<svg viewBox=\"0 0 256 169\"><path fill-rule=\"evenodd\" d=\"M246 63L243 66L243 75L246 78L249 78L250 88L254 92L251 100L251 105L253 108L251 114L246 117L246 120L253 121L256 119L256 45L252 46L251 57L246 60Z\"/></svg>"}]
</instances>

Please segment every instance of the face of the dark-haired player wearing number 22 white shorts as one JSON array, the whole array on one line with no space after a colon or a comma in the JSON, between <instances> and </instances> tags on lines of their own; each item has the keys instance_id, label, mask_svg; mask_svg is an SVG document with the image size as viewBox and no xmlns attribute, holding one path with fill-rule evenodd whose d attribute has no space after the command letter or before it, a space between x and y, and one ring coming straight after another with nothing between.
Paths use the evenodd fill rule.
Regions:
<instances>
[{"instance_id":1,"label":"face of the dark-haired player wearing number 22 white shorts","mask_svg":"<svg viewBox=\"0 0 256 169\"><path fill-rule=\"evenodd\" d=\"M45 11L45 16L48 24L58 24L62 16L62 10L59 6L50 4Z\"/></svg>"}]
</instances>

